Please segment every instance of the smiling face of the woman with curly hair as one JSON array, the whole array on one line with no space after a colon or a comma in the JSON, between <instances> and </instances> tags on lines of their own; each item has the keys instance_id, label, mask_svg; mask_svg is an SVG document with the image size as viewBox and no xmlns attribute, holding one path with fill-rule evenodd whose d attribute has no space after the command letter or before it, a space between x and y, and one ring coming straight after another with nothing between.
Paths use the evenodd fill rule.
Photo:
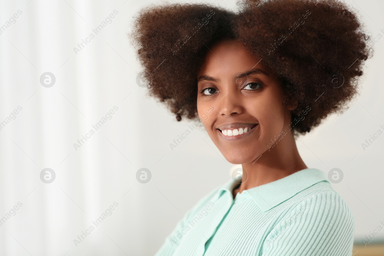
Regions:
<instances>
[{"instance_id":1,"label":"smiling face of the woman with curly hair","mask_svg":"<svg viewBox=\"0 0 384 256\"><path fill-rule=\"evenodd\" d=\"M238 41L222 41L198 73L200 120L232 164L256 160L291 122L280 79L259 61Z\"/></svg>"}]
</instances>

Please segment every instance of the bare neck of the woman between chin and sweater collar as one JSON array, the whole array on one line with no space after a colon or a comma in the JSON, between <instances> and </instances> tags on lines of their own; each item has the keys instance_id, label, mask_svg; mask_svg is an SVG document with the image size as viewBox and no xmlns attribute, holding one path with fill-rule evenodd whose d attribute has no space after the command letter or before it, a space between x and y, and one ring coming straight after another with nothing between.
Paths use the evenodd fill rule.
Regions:
<instances>
[{"instance_id":1,"label":"bare neck of the woman between chin and sweater collar","mask_svg":"<svg viewBox=\"0 0 384 256\"><path fill-rule=\"evenodd\" d=\"M237 192L279 180L308 167L301 159L290 131L260 157L242 164L242 168L242 183L233 190L233 198Z\"/></svg>"}]
</instances>

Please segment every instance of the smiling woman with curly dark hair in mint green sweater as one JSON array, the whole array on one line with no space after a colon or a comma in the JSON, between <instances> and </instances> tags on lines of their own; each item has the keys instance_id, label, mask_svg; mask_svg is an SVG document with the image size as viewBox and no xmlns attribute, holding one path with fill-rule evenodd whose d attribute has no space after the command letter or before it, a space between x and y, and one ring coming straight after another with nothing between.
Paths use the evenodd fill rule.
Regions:
<instances>
[{"instance_id":1,"label":"smiling woman with curly dark hair in mint green sweater","mask_svg":"<svg viewBox=\"0 0 384 256\"><path fill-rule=\"evenodd\" d=\"M225 159L242 164L156 255L351 255L353 215L295 138L356 96L369 36L336 0L238 5L151 6L135 20L150 94L178 121L197 114Z\"/></svg>"}]
</instances>

